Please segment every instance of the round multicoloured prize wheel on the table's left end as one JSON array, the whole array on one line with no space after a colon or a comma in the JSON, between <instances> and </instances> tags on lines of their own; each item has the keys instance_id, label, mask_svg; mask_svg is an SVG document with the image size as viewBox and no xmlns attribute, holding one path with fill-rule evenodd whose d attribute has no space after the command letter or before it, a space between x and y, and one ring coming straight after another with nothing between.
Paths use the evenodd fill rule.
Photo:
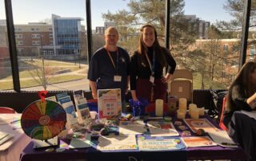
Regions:
<instances>
[{"instance_id":1,"label":"round multicoloured prize wheel on the table's left end","mask_svg":"<svg viewBox=\"0 0 256 161\"><path fill-rule=\"evenodd\" d=\"M52 100L36 100L22 112L22 129L32 139L51 139L66 126L66 112Z\"/></svg>"}]
</instances>

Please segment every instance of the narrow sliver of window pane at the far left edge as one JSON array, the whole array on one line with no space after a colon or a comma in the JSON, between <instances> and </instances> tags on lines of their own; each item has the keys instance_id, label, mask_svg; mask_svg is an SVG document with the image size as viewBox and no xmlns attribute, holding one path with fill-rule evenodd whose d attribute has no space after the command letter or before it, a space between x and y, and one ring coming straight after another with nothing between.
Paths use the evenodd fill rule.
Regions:
<instances>
[{"instance_id":1,"label":"narrow sliver of window pane at the far left edge","mask_svg":"<svg viewBox=\"0 0 256 161\"><path fill-rule=\"evenodd\" d=\"M0 0L0 90L13 89L4 1Z\"/></svg>"}]
</instances>

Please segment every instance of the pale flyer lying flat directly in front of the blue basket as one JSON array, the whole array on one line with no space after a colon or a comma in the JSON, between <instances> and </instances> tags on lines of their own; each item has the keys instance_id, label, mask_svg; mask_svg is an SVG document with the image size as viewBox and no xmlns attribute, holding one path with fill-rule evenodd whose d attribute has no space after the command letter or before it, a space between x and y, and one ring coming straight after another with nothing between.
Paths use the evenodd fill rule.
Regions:
<instances>
[{"instance_id":1,"label":"pale flyer lying flat directly in front of the blue basket","mask_svg":"<svg viewBox=\"0 0 256 161\"><path fill-rule=\"evenodd\" d=\"M146 130L146 126L142 120L120 121L119 122L119 134L120 135L144 134L145 132L147 132L147 130Z\"/></svg>"}]
</instances>

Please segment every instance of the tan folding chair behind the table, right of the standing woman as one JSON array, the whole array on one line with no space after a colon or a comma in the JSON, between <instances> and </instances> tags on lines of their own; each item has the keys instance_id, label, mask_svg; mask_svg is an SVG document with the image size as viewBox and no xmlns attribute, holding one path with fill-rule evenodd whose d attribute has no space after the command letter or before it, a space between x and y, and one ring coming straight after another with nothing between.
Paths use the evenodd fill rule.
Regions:
<instances>
[{"instance_id":1,"label":"tan folding chair behind the table, right of the standing woman","mask_svg":"<svg viewBox=\"0 0 256 161\"><path fill-rule=\"evenodd\" d=\"M170 96L186 98L193 103L193 75L187 69L176 69L169 85Z\"/></svg>"}]
</instances>

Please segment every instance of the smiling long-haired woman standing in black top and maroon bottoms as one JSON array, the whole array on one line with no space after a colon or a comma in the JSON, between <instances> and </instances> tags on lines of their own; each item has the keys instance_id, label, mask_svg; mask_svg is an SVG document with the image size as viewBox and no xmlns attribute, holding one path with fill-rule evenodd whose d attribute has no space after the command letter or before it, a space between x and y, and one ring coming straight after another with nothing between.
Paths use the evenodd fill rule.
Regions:
<instances>
[{"instance_id":1,"label":"smiling long-haired woman standing in black top and maroon bottoms","mask_svg":"<svg viewBox=\"0 0 256 161\"><path fill-rule=\"evenodd\" d=\"M166 100L167 82L176 68L176 62L169 49L159 45L154 26L142 26L138 49L130 60L130 90L134 101L146 99ZM166 76L163 69L167 68Z\"/></svg>"}]
</instances>

